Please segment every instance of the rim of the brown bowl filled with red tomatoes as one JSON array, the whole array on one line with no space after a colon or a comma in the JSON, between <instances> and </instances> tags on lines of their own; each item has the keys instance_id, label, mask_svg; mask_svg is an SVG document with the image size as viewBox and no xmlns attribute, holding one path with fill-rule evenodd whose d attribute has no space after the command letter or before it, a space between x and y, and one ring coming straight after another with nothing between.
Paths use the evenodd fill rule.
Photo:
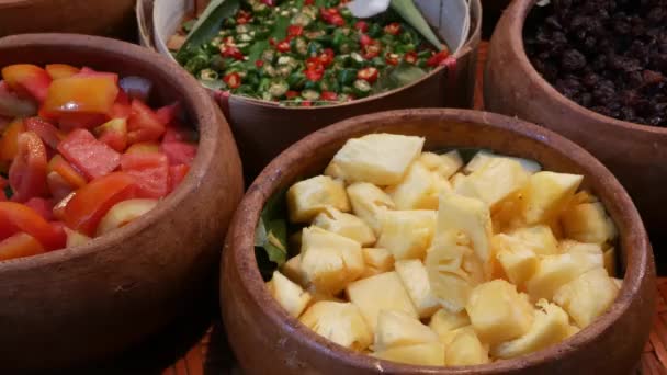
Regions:
<instances>
[{"instance_id":1,"label":"rim of the brown bowl filled with red tomatoes","mask_svg":"<svg viewBox=\"0 0 667 375\"><path fill-rule=\"evenodd\" d=\"M0 273L10 271L26 271L90 255L108 249L126 238L134 237L142 231L155 226L166 214L181 205L189 195L195 193L200 182L205 177L205 170L215 157L215 150L221 140L216 138L219 133L217 127L224 117L219 114L217 105L212 101L206 91L190 75L185 73L178 65L147 48L101 36L68 34L68 33L31 33L16 34L0 37L0 52L24 47L49 47L57 48L67 46L75 53L87 54L99 53L116 55L117 59L131 61L134 65L144 65L157 71L156 76L169 78L171 86L178 89L180 101L188 113L191 126L196 126L200 134L197 154L192 161L190 171L181 184L169 195L159 200L158 205L150 212L142 215L122 228L116 228L109 234L94 237L88 242L75 247L66 247L42 254L25 258L0 261ZM64 60L67 60L65 58ZM26 61L30 64L30 61ZM208 118L210 121L204 121ZM208 136L204 136L208 135Z\"/></svg>"}]
</instances>

